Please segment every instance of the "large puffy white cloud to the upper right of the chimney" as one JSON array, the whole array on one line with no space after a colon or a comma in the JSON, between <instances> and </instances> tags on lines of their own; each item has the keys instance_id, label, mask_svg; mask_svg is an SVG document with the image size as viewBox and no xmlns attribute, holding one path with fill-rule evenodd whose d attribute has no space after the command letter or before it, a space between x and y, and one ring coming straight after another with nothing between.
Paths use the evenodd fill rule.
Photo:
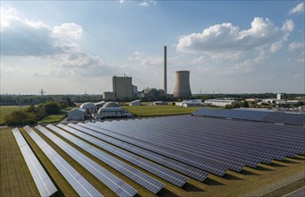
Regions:
<instances>
[{"instance_id":1,"label":"large puffy white cloud to the upper right of the chimney","mask_svg":"<svg viewBox=\"0 0 305 197\"><path fill-rule=\"evenodd\" d=\"M267 18L256 17L249 30L240 30L232 23L210 26L201 33L182 36L176 45L177 51L197 53L212 58L237 59L242 52L259 47L278 50L294 29L292 20L285 21L281 28Z\"/></svg>"}]
</instances>

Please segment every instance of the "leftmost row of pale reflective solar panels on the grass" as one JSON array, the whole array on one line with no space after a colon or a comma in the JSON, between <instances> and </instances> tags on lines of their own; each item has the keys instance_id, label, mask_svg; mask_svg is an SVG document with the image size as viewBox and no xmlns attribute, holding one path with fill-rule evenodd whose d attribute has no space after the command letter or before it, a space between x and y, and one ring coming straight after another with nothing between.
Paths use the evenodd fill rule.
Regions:
<instances>
[{"instance_id":1,"label":"leftmost row of pale reflective solar panels on the grass","mask_svg":"<svg viewBox=\"0 0 305 197\"><path fill-rule=\"evenodd\" d=\"M33 177L40 195L51 196L52 194L56 193L57 189L55 185L47 175L45 169L39 163L38 158L36 158L33 151L30 149L28 142L24 140L19 129L14 128L12 132L21 150L21 154L30 169L30 175Z\"/></svg>"}]
</instances>

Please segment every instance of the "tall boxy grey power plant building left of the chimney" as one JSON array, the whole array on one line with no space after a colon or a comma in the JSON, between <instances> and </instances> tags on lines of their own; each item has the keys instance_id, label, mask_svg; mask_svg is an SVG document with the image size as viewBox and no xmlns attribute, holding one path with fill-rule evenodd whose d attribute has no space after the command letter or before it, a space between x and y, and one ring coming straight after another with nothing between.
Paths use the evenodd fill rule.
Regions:
<instances>
[{"instance_id":1,"label":"tall boxy grey power plant building left of the chimney","mask_svg":"<svg viewBox=\"0 0 305 197\"><path fill-rule=\"evenodd\" d=\"M113 90L115 99L132 98L132 78L123 77L113 77Z\"/></svg>"}]
</instances>

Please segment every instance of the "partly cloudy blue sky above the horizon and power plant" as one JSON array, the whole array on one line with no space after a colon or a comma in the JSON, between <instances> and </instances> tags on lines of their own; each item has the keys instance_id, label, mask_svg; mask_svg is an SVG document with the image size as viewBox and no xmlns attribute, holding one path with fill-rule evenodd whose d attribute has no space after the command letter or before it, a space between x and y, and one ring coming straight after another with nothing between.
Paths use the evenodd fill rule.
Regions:
<instances>
[{"instance_id":1,"label":"partly cloudy blue sky above the horizon and power plant","mask_svg":"<svg viewBox=\"0 0 305 197\"><path fill-rule=\"evenodd\" d=\"M1 1L1 93L304 92L304 1Z\"/></svg>"}]
</instances>

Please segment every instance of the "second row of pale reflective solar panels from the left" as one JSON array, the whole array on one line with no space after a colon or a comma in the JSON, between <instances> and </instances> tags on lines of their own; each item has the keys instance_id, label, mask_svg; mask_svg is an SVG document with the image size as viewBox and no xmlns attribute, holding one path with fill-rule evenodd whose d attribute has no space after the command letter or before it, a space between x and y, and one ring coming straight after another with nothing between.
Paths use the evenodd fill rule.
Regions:
<instances>
[{"instance_id":1,"label":"second row of pale reflective solar panels from the left","mask_svg":"<svg viewBox=\"0 0 305 197\"><path fill-rule=\"evenodd\" d=\"M35 141L38 147L46 154L47 158L53 163L58 171L64 176L72 188L80 196L103 196L97 189L81 176L68 162L64 160L50 145L44 141L38 133L35 133L30 126L23 129Z\"/></svg>"}]
</instances>

